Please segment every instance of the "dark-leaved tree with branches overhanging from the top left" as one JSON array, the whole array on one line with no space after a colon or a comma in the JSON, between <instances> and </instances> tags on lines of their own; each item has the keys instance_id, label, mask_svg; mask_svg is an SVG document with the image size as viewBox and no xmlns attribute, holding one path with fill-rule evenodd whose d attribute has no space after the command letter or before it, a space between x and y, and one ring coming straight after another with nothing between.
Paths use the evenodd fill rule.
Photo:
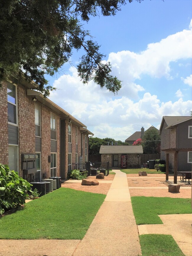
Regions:
<instances>
[{"instance_id":1,"label":"dark-leaved tree with branches overhanging from the top left","mask_svg":"<svg viewBox=\"0 0 192 256\"><path fill-rule=\"evenodd\" d=\"M113 93L121 81L103 64L99 45L82 23L91 16L115 15L121 5L133 0L4 0L0 1L0 81L34 80L38 90L49 95L53 88L45 74L53 75L83 48L77 70L83 83L94 80ZM143 0L136 0L138 2Z\"/></svg>"}]
</instances>

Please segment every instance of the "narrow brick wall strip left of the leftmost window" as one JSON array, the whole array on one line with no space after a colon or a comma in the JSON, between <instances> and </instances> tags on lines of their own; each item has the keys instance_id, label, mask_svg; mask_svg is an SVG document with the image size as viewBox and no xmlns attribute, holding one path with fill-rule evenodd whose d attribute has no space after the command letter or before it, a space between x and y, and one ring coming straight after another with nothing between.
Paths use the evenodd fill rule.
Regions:
<instances>
[{"instance_id":1,"label":"narrow brick wall strip left of the leftmost window","mask_svg":"<svg viewBox=\"0 0 192 256\"><path fill-rule=\"evenodd\" d=\"M8 164L8 116L7 116L7 89L2 82L0 88L0 163Z\"/></svg>"}]
</instances>

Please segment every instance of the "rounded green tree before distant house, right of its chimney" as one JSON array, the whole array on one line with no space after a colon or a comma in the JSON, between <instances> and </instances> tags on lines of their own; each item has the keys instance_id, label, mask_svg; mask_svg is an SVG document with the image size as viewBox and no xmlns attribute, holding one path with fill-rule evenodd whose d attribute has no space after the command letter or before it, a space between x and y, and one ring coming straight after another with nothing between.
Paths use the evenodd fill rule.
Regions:
<instances>
[{"instance_id":1,"label":"rounded green tree before distant house, right of its chimney","mask_svg":"<svg viewBox=\"0 0 192 256\"><path fill-rule=\"evenodd\" d=\"M144 154L159 154L161 145L161 136L157 129L148 129L142 138Z\"/></svg>"}]
</instances>

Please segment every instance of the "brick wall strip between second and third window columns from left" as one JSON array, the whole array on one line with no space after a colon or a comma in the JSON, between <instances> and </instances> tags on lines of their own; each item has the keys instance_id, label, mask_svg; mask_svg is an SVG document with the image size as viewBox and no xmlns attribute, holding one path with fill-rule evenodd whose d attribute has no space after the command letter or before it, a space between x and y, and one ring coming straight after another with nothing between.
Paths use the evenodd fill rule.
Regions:
<instances>
[{"instance_id":1,"label":"brick wall strip between second and third window columns from left","mask_svg":"<svg viewBox=\"0 0 192 256\"><path fill-rule=\"evenodd\" d=\"M48 155L51 155L50 111L41 106L41 173L46 173L47 179L50 176Z\"/></svg>"}]
</instances>

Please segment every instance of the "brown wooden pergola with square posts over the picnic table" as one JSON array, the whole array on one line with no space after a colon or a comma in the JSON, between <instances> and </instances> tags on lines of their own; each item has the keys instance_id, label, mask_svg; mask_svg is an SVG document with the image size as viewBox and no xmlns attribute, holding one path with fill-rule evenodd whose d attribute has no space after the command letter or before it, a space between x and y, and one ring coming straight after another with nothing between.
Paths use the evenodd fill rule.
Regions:
<instances>
[{"instance_id":1,"label":"brown wooden pergola with square posts over the picnic table","mask_svg":"<svg viewBox=\"0 0 192 256\"><path fill-rule=\"evenodd\" d=\"M169 154L174 154L174 183L177 184L177 168L179 151L192 151L192 148L167 148L162 149L166 153L166 180L169 179Z\"/></svg>"}]
</instances>

